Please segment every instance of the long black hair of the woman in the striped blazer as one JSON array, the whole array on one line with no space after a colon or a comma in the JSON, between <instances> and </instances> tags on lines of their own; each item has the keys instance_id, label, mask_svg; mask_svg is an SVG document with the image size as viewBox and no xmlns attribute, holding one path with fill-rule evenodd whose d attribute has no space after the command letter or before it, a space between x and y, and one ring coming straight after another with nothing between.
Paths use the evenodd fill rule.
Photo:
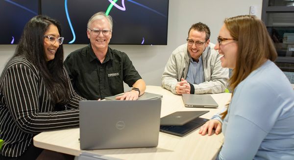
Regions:
<instances>
[{"instance_id":1,"label":"long black hair of the woman in the striped blazer","mask_svg":"<svg viewBox=\"0 0 294 160\"><path fill-rule=\"evenodd\" d=\"M55 110L61 108L70 98L70 89L67 78L63 73L63 47L56 50L53 60L47 61L44 48L44 34L53 24L58 28L61 36L60 23L47 16L35 16L28 23L20 39L19 45L13 57L23 55L39 71L49 91L50 98L55 103ZM56 42L57 43L57 42Z\"/></svg>"}]
</instances>

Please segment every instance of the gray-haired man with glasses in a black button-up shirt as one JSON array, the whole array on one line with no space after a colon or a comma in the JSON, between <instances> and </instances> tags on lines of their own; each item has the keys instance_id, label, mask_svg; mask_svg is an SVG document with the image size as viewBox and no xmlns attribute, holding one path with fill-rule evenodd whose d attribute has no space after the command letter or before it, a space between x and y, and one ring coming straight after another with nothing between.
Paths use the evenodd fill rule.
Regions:
<instances>
[{"instance_id":1,"label":"gray-haired man with glasses in a black button-up shirt","mask_svg":"<svg viewBox=\"0 0 294 160\"><path fill-rule=\"evenodd\" d=\"M123 82L132 87L116 99L136 100L146 84L128 56L108 46L112 18L104 12L94 14L87 25L90 44L73 51L64 61L74 90L86 99L104 99L122 93Z\"/></svg>"}]
</instances>

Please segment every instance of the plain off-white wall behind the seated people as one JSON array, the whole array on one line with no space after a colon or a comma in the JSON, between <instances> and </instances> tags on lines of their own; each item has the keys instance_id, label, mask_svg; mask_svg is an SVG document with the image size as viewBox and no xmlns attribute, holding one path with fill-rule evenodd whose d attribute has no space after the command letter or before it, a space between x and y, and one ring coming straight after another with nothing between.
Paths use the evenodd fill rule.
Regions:
<instances>
[{"instance_id":1,"label":"plain off-white wall behind the seated people","mask_svg":"<svg viewBox=\"0 0 294 160\"><path fill-rule=\"evenodd\" d=\"M110 47L127 53L147 85L161 86L161 75L170 54L186 43L193 23L206 23L211 30L211 42L216 43L224 18L249 14L251 5L257 7L257 17L261 18L262 0L170 0L167 46ZM65 57L83 46L86 45L64 45ZM0 72L15 48L15 45L0 45Z\"/></svg>"}]
</instances>

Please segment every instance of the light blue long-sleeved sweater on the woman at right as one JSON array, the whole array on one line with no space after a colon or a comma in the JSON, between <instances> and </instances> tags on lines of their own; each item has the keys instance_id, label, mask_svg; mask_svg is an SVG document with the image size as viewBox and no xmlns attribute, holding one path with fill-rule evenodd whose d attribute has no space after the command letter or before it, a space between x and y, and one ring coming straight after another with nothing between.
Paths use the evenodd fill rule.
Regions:
<instances>
[{"instance_id":1,"label":"light blue long-sleeved sweater on the woman at right","mask_svg":"<svg viewBox=\"0 0 294 160\"><path fill-rule=\"evenodd\" d=\"M222 133L219 160L294 160L294 90L273 62L237 86Z\"/></svg>"}]
</instances>

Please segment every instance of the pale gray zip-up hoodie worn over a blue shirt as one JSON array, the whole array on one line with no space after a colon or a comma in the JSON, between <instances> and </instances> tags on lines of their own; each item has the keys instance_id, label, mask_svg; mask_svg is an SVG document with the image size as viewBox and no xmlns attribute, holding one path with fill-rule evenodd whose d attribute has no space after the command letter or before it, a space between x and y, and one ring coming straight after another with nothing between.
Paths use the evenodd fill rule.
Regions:
<instances>
[{"instance_id":1,"label":"pale gray zip-up hoodie worn over a blue shirt","mask_svg":"<svg viewBox=\"0 0 294 160\"><path fill-rule=\"evenodd\" d=\"M193 84L194 94L221 93L228 85L229 69L221 67L220 55L210 43L202 53L204 82ZM167 62L162 74L162 86L176 94L175 86L181 78L186 79L189 69L187 44L177 47Z\"/></svg>"}]
</instances>

